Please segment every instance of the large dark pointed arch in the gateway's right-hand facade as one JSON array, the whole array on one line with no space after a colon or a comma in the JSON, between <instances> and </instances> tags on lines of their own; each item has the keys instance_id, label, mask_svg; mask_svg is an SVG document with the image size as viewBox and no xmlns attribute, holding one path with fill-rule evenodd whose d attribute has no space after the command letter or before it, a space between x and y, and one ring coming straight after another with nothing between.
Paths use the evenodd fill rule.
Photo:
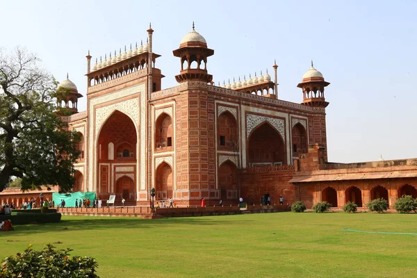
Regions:
<instances>
[{"instance_id":1,"label":"large dark pointed arch in the gateway's right-hand facade","mask_svg":"<svg viewBox=\"0 0 417 278\"><path fill-rule=\"evenodd\" d=\"M248 145L250 167L286 165L284 140L268 122L252 131Z\"/></svg>"}]
</instances>

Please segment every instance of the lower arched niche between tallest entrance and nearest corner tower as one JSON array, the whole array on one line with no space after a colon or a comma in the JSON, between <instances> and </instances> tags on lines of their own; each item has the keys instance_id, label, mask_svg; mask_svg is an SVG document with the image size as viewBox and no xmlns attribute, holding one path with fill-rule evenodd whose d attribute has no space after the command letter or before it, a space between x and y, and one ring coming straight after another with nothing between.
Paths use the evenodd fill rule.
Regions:
<instances>
[{"instance_id":1,"label":"lower arched niche between tallest entrance and nearest corner tower","mask_svg":"<svg viewBox=\"0 0 417 278\"><path fill-rule=\"evenodd\" d=\"M155 196L157 200L166 200L173 197L173 177L172 168L168 163L164 161L158 166L155 177Z\"/></svg>"}]
</instances>

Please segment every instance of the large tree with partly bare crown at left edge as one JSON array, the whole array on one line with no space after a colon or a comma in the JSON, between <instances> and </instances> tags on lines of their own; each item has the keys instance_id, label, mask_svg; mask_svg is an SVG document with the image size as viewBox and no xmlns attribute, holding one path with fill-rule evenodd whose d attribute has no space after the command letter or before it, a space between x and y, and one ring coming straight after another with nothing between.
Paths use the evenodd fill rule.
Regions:
<instances>
[{"instance_id":1,"label":"large tree with partly bare crown at left edge","mask_svg":"<svg viewBox=\"0 0 417 278\"><path fill-rule=\"evenodd\" d=\"M22 190L74 185L80 138L56 113L57 82L39 62L24 49L0 50L0 192L11 177Z\"/></svg>"}]
</instances>

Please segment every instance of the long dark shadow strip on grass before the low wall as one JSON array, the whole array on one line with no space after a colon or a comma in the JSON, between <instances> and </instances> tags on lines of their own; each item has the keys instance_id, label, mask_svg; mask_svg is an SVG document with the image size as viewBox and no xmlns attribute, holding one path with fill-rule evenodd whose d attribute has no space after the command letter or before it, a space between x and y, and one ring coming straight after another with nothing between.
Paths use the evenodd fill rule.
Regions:
<instances>
[{"instance_id":1,"label":"long dark shadow strip on grass before the low wall","mask_svg":"<svg viewBox=\"0 0 417 278\"><path fill-rule=\"evenodd\" d=\"M27 234L44 233L47 231L56 232L70 232L81 230L100 230L100 229L152 229L161 227L181 227L182 225L207 225L216 226L221 224L227 225L241 225L250 224L254 220L239 220L240 215L234 216L233 220L226 220L222 216L215 217L201 217L201 218L162 218L162 219L141 219L141 218L106 218L106 217L92 217L92 216L74 216L72 218L79 219L65 219L67 216L63 215L63 219L59 223L47 224L24 224L15 225L15 231L10 234Z\"/></svg>"}]
</instances>

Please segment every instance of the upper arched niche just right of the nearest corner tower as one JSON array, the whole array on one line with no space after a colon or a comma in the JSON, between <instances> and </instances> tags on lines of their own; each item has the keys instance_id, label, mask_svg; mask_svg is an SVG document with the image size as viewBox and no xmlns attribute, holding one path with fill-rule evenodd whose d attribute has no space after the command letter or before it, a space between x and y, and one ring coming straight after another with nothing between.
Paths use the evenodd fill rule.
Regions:
<instances>
[{"instance_id":1,"label":"upper arched niche just right of the nearest corner tower","mask_svg":"<svg viewBox=\"0 0 417 278\"><path fill-rule=\"evenodd\" d=\"M218 118L218 149L238 152L238 124L229 111L223 112Z\"/></svg>"}]
</instances>

